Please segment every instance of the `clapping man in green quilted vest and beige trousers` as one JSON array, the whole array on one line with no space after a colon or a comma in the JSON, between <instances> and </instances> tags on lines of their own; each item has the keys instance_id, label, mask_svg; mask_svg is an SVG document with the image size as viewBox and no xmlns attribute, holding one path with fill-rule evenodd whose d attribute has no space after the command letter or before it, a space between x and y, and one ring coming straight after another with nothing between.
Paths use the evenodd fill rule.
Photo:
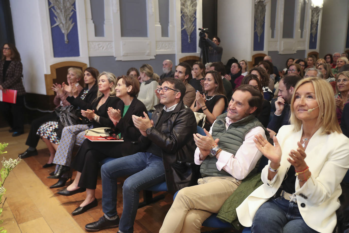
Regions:
<instances>
[{"instance_id":1,"label":"clapping man in green quilted vest and beige trousers","mask_svg":"<svg viewBox=\"0 0 349 233\"><path fill-rule=\"evenodd\" d=\"M160 232L200 232L203 221L218 213L224 201L249 174L257 172L262 154L254 135L269 138L255 118L263 95L252 85L236 88L228 112L217 117L207 136L194 134L194 162L200 165L198 185L181 189L166 214Z\"/></svg>"}]
</instances>

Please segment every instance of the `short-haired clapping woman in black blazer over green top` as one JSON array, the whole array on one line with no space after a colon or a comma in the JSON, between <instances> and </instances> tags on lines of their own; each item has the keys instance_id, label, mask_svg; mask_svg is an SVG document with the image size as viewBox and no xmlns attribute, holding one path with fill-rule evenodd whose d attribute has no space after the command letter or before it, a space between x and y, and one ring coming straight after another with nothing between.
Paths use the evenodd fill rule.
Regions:
<instances>
[{"instance_id":1,"label":"short-haired clapping woman in black blazer over green top","mask_svg":"<svg viewBox=\"0 0 349 233\"><path fill-rule=\"evenodd\" d=\"M130 76L118 77L116 96L120 101L116 109L109 108L108 115L114 123L115 133L124 139L124 142L91 142L85 140L76 154L72 168L77 170L75 180L66 189L58 194L70 196L86 190L86 199L72 214L77 215L97 206L95 189L99 161L107 158L120 158L134 154L141 150L139 145L132 144L141 136L141 132L134 126L132 115L144 116L147 108L136 98L139 93L139 82Z\"/></svg>"}]
</instances>

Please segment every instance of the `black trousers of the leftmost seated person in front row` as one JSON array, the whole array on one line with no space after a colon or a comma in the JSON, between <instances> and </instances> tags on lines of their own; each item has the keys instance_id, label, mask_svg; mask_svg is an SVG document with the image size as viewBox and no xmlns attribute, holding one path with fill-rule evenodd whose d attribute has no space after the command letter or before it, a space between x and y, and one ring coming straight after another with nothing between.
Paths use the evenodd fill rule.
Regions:
<instances>
[{"instance_id":1,"label":"black trousers of the leftmost seated person in front row","mask_svg":"<svg viewBox=\"0 0 349 233\"><path fill-rule=\"evenodd\" d=\"M31 122L30 131L28 134L27 141L25 142L25 145L36 147L38 145L40 136L36 134L39 127L48 122L48 121L58 121L57 114L55 112L51 112L50 114L41 116L39 118L36 118Z\"/></svg>"}]
</instances>

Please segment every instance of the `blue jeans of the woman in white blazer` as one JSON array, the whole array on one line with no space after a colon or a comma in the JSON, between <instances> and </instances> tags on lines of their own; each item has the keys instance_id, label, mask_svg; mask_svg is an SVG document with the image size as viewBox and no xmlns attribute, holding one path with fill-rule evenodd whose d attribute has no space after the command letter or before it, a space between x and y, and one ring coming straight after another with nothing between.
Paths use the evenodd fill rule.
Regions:
<instances>
[{"instance_id":1,"label":"blue jeans of the woman in white blazer","mask_svg":"<svg viewBox=\"0 0 349 233\"><path fill-rule=\"evenodd\" d=\"M306 225L299 213L297 203L281 197L272 197L257 210L251 232L310 233L317 231Z\"/></svg>"}]
</instances>

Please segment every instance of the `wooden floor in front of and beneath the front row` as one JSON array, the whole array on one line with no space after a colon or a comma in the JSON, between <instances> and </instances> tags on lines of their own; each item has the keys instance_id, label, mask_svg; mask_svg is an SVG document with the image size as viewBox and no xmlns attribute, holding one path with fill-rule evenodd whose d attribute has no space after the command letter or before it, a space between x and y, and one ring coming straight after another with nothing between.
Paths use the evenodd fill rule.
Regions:
<instances>
[{"instance_id":1,"label":"wooden floor in front of and beneath the front row","mask_svg":"<svg viewBox=\"0 0 349 233\"><path fill-rule=\"evenodd\" d=\"M25 133L18 137L12 137L8 128L0 129L0 142L9 143L6 150L8 153L3 156L17 158L19 153L24 152L28 147L25 140L28 136L29 125ZM103 215L102 212L102 185L98 178L96 198L98 206L87 212L72 216L70 213L80 205L85 198L85 193L73 196L61 196L56 192L63 189L50 189L50 185L57 182L55 179L46 177L54 169L42 168L49 158L48 150L40 140L37 149L39 154L22 160L12 170L5 181L7 189L7 200L4 205L0 219L4 220L4 226L10 233L15 232L85 232L84 226L92 221L97 221ZM75 177L75 173L73 174ZM117 210L122 213L122 182L118 183L118 206ZM167 211L172 204L173 195L163 192L165 198L154 204L142 207L138 210L134 223L134 232L158 232ZM156 194L155 194L156 195ZM140 194L142 197L142 193ZM140 198L142 201L142 198ZM203 227L201 232L212 230ZM103 230L101 232L117 232L116 229Z\"/></svg>"}]
</instances>

